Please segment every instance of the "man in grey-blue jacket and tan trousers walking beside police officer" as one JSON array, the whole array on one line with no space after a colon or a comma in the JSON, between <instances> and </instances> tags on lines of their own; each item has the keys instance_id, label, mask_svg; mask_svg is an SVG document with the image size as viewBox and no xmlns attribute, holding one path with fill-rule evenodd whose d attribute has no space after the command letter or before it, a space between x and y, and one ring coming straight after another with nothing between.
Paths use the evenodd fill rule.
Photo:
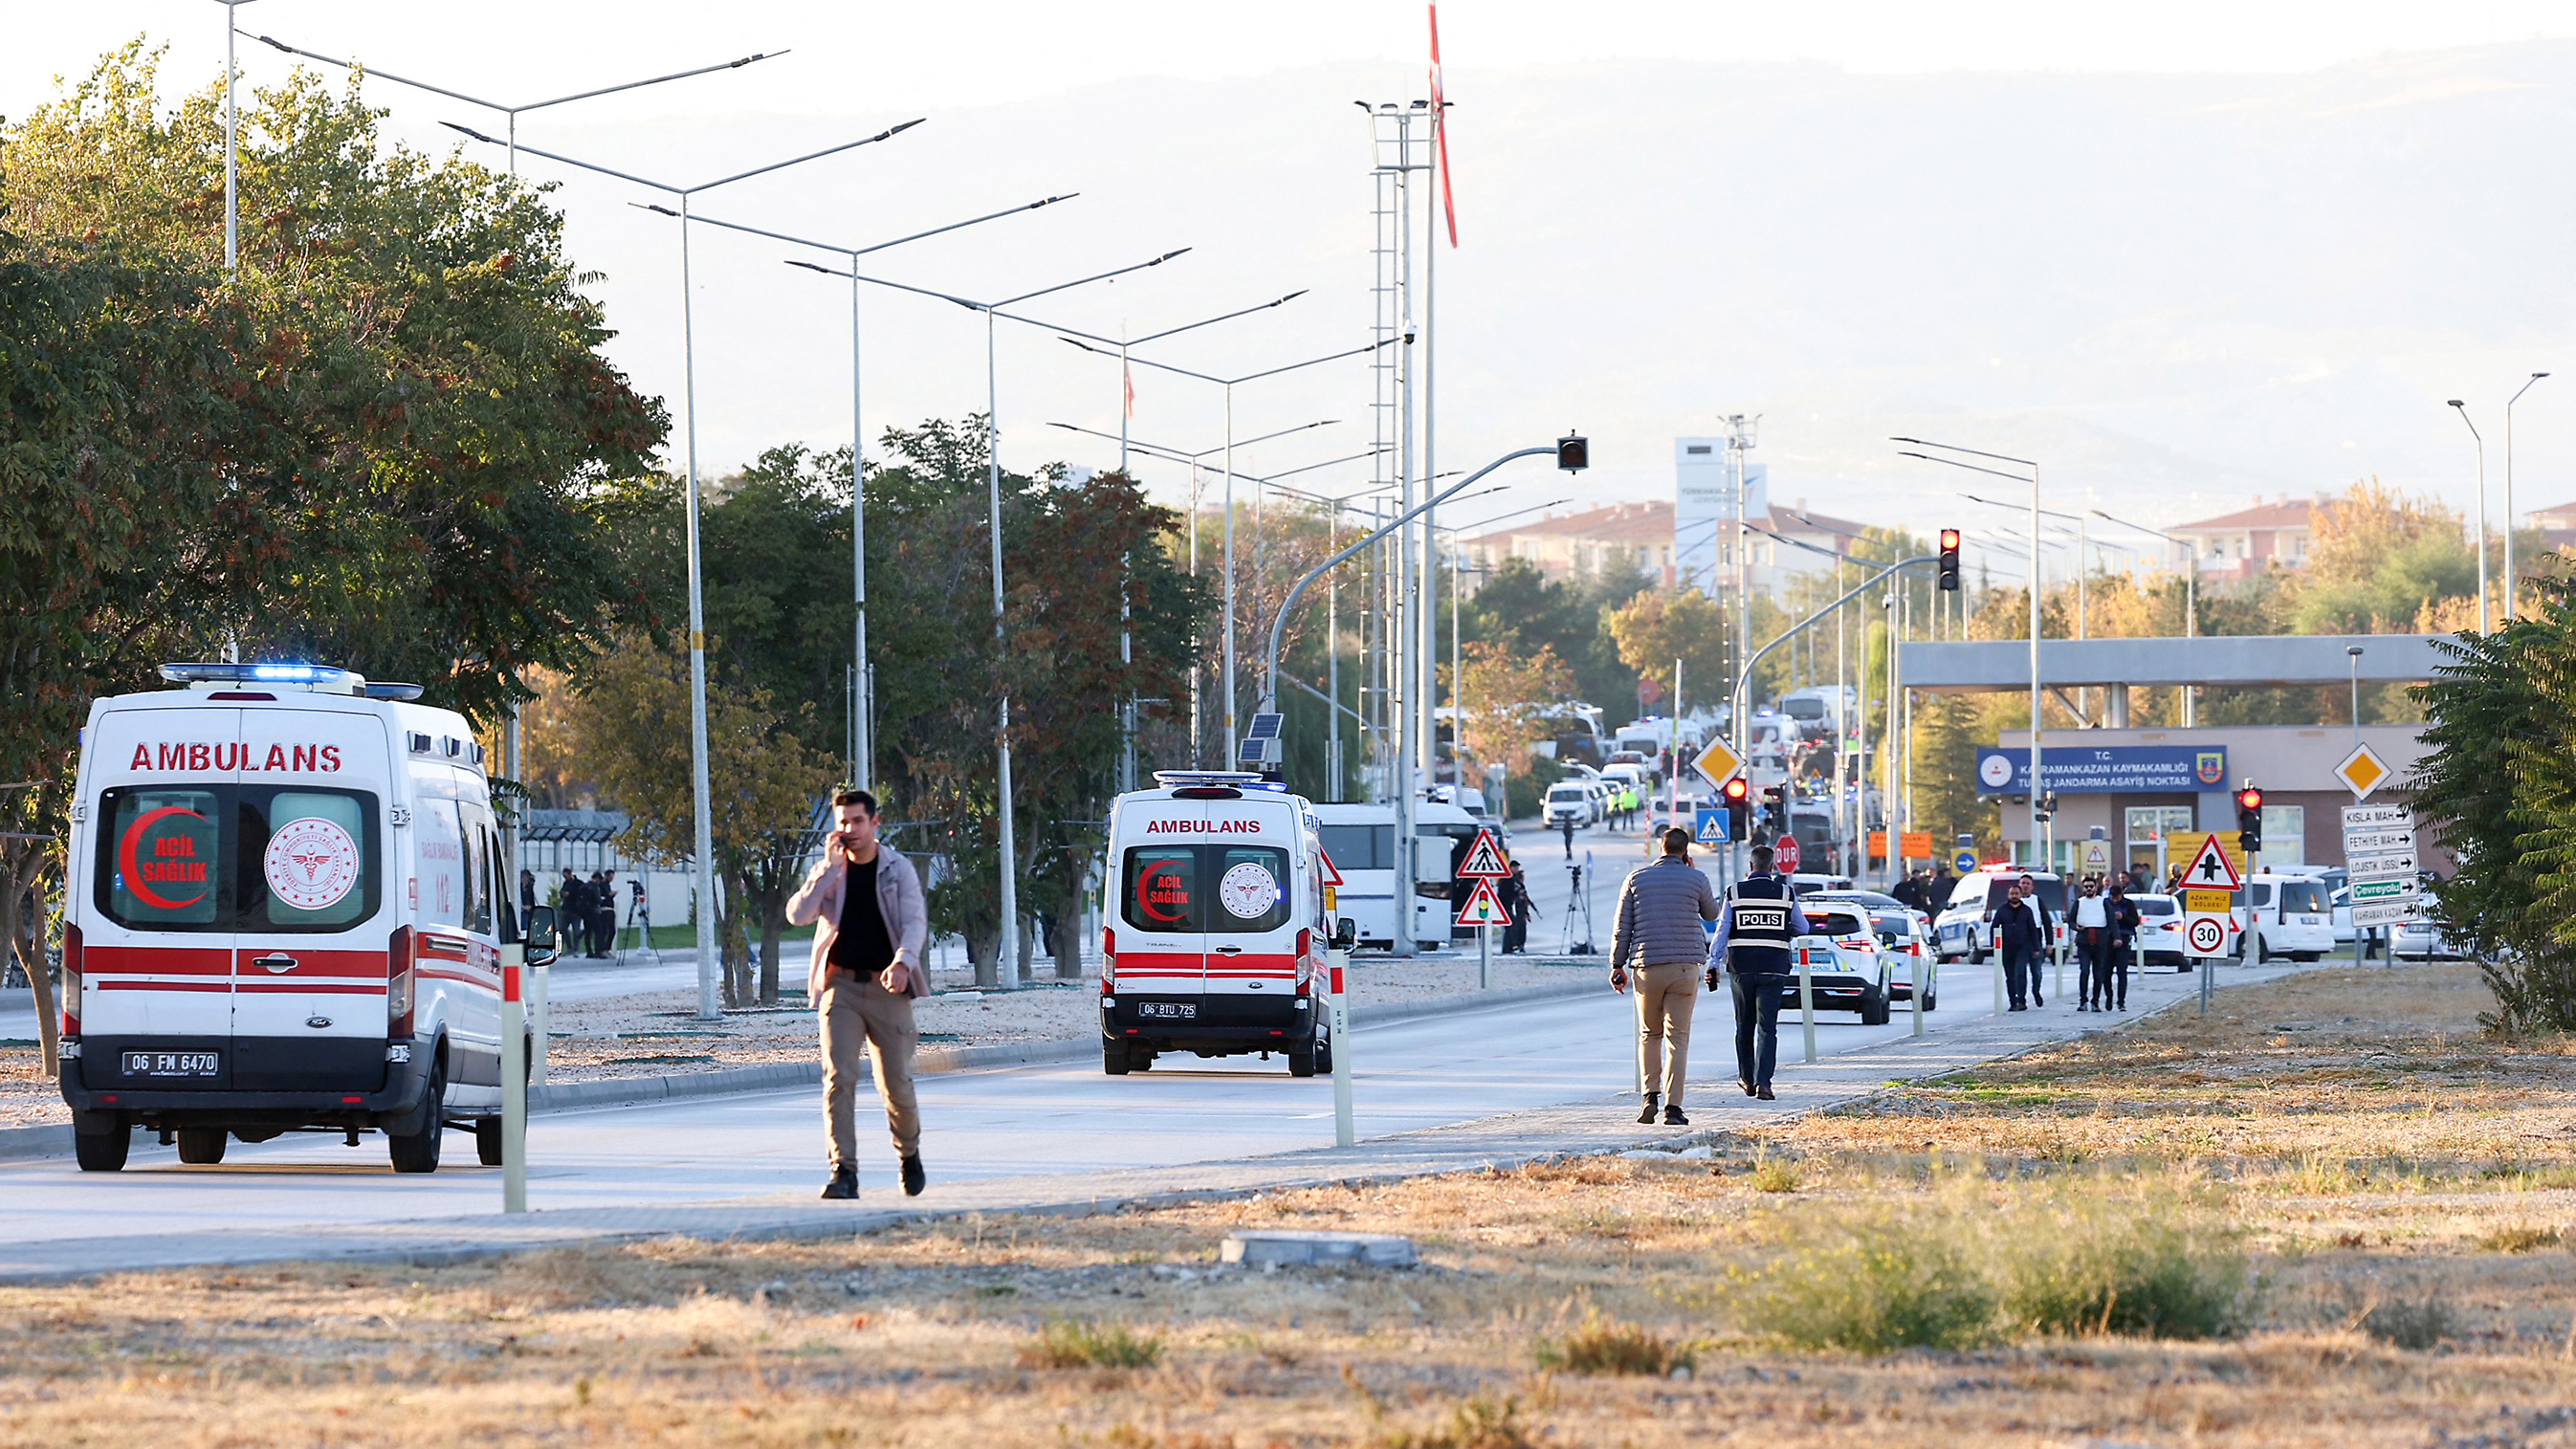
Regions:
<instances>
[{"instance_id":1,"label":"man in grey-blue jacket and tan trousers walking beside police officer","mask_svg":"<svg viewBox=\"0 0 2576 1449\"><path fill-rule=\"evenodd\" d=\"M1610 991L1628 991L1628 963L1636 963L1638 1122L1654 1122L1662 1102L1667 1125L1690 1125L1682 1081L1690 1071L1690 1009L1700 999L1700 963L1708 960L1700 921L1716 919L1718 893L1690 865L1690 831L1664 831L1664 857L1636 867L1620 885L1610 932Z\"/></svg>"}]
</instances>

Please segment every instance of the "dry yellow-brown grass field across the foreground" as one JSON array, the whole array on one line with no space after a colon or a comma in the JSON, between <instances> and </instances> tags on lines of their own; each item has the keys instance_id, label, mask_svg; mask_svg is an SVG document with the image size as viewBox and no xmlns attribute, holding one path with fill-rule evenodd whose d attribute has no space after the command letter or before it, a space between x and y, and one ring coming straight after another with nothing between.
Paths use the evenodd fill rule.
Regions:
<instances>
[{"instance_id":1,"label":"dry yellow-brown grass field across the foreground","mask_svg":"<svg viewBox=\"0 0 2576 1449\"><path fill-rule=\"evenodd\" d=\"M0 1444L2576 1444L2576 1063L2478 1040L2460 968L2221 1004L1716 1161L0 1289ZM1218 1269L1234 1223L1412 1233L1427 1266ZM2262 1289L2215 1341L2123 1333L2117 1277L1994 1279L2030 1320L1984 1349L1798 1351L1749 1313L1801 1251L2014 1223L2079 1269L2079 1228L2223 1223Z\"/></svg>"}]
</instances>

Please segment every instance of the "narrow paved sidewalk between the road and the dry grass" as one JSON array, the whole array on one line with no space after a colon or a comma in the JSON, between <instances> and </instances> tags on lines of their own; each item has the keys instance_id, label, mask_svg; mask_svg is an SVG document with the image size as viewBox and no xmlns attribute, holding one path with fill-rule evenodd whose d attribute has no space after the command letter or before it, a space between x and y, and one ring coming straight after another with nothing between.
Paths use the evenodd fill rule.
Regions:
<instances>
[{"instance_id":1,"label":"narrow paved sidewalk between the road and the dry grass","mask_svg":"<svg viewBox=\"0 0 2576 1449\"><path fill-rule=\"evenodd\" d=\"M2298 965L2236 970L2223 988L2275 981ZM1973 970L1953 986L1968 986ZM1976 983L1984 986L1984 983ZM1896 1037L1875 1048L1801 1066L1795 1017L1783 1022L1777 1102L1736 1091L1731 1073L1692 1081L1687 1130L1633 1122L1633 1094L1595 1096L1530 1112L1504 1112L1422 1132L1401 1132L1355 1148L1314 1148L1265 1158L1182 1163L1146 1171L1082 1176L1020 1176L933 1184L917 1204L845 1207L804 1197L755 1197L683 1207L528 1212L520 1217L471 1215L371 1225L309 1225L294 1230L162 1233L134 1238L67 1238L0 1248L0 1282L59 1282L103 1271L175 1266L242 1266L276 1261L453 1264L533 1248L631 1243L649 1238L829 1238L907 1220L963 1215L1084 1215L1118 1207L1154 1207L1252 1192L1386 1181L1471 1168L1510 1168L1530 1161L1595 1156L1636 1148L1677 1150L1731 1130L1777 1122L1865 1099L1891 1081L1919 1081L1976 1063L2012 1058L2032 1048L2115 1029L2159 1009L2192 1009L2197 975L2146 975L2130 983L2138 1009L2128 1017L2084 1017L2063 1009L1960 1022L1922 1040ZM1968 993L1955 999L1965 1004ZM2097 1024L2099 1022L2099 1024ZM1728 1063L1731 1066L1731 1063ZM896 1199L902 1202L902 1199Z\"/></svg>"}]
</instances>

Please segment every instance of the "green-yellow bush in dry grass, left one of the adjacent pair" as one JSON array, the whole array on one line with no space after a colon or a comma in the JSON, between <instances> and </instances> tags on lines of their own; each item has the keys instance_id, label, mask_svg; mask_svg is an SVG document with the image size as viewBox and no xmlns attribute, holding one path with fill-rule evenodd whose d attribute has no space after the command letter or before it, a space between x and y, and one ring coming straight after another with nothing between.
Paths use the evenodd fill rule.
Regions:
<instances>
[{"instance_id":1,"label":"green-yellow bush in dry grass, left one of the adjacent pair","mask_svg":"<svg viewBox=\"0 0 2576 1449\"><path fill-rule=\"evenodd\" d=\"M1883 1223L1752 1274L1744 1323L1793 1349L1976 1349L1996 1338L1994 1289L1953 1246L1953 1223Z\"/></svg>"}]
</instances>

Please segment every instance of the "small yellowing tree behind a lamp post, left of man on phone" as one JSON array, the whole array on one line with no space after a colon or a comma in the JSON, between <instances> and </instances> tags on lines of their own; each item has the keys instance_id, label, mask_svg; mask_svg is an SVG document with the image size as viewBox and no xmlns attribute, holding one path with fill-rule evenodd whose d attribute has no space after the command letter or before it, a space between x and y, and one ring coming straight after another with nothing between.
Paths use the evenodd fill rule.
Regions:
<instances>
[{"instance_id":1,"label":"small yellowing tree behind a lamp post, left of man on phone","mask_svg":"<svg viewBox=\"0 0 2576 1449\"><path fill-rule=\"evenodd\" d=\"M598 659L567 713L574 749L626 811L623 844L662 862L696 854L698 808L690 764L688 654L629 633ZM716 934L724 1001L752 1004L742 903L760 914L760 1001L778 1001L778 937L788 893L814 854L814 806L832 762L799 739L814 705L778 705L757 685L708 679L706 777L714 867L724 880ZM701 909L714 903L701 901Z\"/></svg>"}]
</instances>

